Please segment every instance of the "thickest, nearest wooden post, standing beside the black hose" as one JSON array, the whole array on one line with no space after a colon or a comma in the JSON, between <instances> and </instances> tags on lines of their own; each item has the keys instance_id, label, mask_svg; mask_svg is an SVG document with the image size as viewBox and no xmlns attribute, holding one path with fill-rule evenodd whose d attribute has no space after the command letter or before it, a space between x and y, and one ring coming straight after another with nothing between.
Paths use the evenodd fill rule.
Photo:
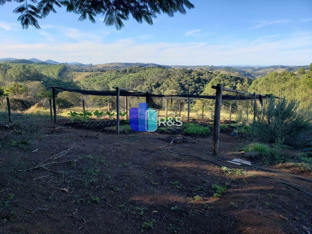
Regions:
<instances>
[{"instance_id":1,"label":"thickest, nearest wooden post, standing beside the black hose","mask_svg":"<svg viewBox=\"0 0 312 234\"><path fill-rule=\"evenodd\" d=\"M222 88L223 88L222 84L217 84L217 86L215 87L216 103L215 103L213 132L212 132L212 154L213 155L218 155Z\"/></svg>"}]
</instances>

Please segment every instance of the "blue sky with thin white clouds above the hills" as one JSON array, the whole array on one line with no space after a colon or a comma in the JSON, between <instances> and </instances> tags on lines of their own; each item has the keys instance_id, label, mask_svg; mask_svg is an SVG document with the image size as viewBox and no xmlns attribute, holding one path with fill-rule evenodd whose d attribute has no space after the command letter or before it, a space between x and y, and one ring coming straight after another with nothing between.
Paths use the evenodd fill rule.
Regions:
<instances>
[{"instance_id":1,"label":"blue sky with thin white clouds above the hills","mask_svg":"<svg viewBox=\"0 0 312 234\"><path fill-rule=\"evenodd\" d=\"M0 6L0 58L59 62L144 62L163 65L307 65L312 62L312 1L190 0L194 9L154 25L130 19L117 31L79 22L56 8L39 20L40 30L23 30L17 3Z\"/></svg>"}]
</instances>

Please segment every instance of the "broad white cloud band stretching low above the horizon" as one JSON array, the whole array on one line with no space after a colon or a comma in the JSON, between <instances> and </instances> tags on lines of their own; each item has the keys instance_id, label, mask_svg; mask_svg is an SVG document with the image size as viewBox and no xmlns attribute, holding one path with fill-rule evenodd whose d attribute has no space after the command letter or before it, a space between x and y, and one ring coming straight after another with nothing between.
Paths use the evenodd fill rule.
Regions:
<instances>
[{"instance_id":1,"label":"broad white cloud band stretching low above the horizon","mask_svg":"<svg viewBox=\"0 0 312 234\"><path fill-rule=\"evenodd\" d=\"M271 35L252 41L228 39L218 44L206 42L143 43L138 38L111 43L63 40L45 43L5 43L0 41L0 58L34 57L60 62L82 63L153 62L164 65L264 64L307 65L312 61L312 32L281 37Z\"/></svg>"}]
</instances>

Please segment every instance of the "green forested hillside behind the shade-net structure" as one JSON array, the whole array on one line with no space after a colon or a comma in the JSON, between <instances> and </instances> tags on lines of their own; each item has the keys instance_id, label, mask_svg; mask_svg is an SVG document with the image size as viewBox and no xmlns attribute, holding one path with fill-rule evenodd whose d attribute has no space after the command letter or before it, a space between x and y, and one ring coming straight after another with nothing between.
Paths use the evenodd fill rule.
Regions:
<instances>
[{"instance_id":1,"label":"green forested hillside behind the shade-net structure","mask_svg":"<svg viewBox=\"0 0 312 234\"><path fill-rule=\"evenodd\" d=\"M0 63L0 87L2 86L2 93L17 95L28 92L27 95L22 95L23 98L40 101L39 97L49 96L48 87L53 85L89 90L111 90L112 86L119 86L155 94L213 95L214 90L211 89L211 85L222 83L231 89L272 93L298 100L301 106L307 106L312 103L312 66L308 71L307 68L309 67L299 68L295 73L274 71L264 77L255 78L244 76L246 74L230 67L226 67L227 73L224 74L220 70L211 71L214 70L212 67L201 71L186 68L167 69L159 66L129 66L124 69L105 69L97 73L89 73L90 75L86 75L80 81L73 81L70 75L75 71L73 66L12 61ZM30 92L32 87L39 86L43 89Z\"/></svg>"}]
</instances>

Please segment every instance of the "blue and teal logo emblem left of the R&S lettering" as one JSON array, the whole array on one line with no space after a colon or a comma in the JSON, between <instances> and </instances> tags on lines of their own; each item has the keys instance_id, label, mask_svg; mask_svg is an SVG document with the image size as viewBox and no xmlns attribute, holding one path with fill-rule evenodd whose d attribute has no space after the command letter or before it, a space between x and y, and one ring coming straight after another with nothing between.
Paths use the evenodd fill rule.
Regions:
<instances>
[{"instance_id":1,"label":"blue and teal logo emblem left of the R&S lettering","mask_svg":"<svg viewBox=\"0 0 312 234\"><path fill-rule=\"evenodd\" d=\"M143 102L129 111L130 127L137 132L154 132L157 129L157 111Z\"/></svg>"}]
</instances>

